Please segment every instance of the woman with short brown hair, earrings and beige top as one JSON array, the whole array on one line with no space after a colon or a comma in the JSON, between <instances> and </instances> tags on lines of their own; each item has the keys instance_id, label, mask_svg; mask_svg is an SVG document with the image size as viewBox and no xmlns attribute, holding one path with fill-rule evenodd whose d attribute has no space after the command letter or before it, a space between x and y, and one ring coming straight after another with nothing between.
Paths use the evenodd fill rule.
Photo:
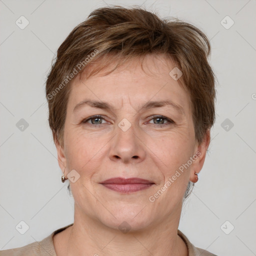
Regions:
<instances>
[{"instance_id":1,"label":"woman with short brown hair, earrings and beige top","mask_svg":"<svg viewBox=\"0 0 256 256\"><path fill-rule=\"evenodd\" d=\"M178 230L215 120L209 53L198 28L141 8L77 25L46 81L74 221L1 255L214 255Z\"/></svg>"}]
</instances>

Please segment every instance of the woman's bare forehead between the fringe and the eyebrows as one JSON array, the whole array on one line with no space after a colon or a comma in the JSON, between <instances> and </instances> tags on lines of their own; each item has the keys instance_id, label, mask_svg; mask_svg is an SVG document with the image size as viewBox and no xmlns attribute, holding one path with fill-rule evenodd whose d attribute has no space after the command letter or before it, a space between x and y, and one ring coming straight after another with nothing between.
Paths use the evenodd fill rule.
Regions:
<instances>
[{"instance_id":1,"label":"woman's bare forehead between the fringe and the eyebrows","mask_svg":"<svg viewBox=\"0 0 256 256\"><path fill-rule=\"evenodd\" d=\"M92 64L90 69L93 69ZM77 76L71 84L68 108L86 99L109 102L116 107L127 101L138 107L147 101L171 100L181 105L185 111L190 108L187 91L169 72L175 67L174 62L161 55L147 55L142 62L133 59L112 70L115 63L102 69L99 73L85 78Z\"/></svg>"}]
</instances>

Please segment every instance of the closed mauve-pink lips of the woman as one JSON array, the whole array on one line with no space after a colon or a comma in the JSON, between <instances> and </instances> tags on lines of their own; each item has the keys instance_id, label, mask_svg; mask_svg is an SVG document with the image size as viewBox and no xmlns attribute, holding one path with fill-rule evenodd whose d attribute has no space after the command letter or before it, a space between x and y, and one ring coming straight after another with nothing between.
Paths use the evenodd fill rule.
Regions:
<instances>
[{"instance_id":1,"label":"closed mauve-pink lips of the woman","mask_svg":"<svg viewBox=\"0 0 256 256\"><path fill-rule=\"evenodd\" d=\"M131 193L149 188L154 184L154 182L142 178L114 177L106 179L100 182L100 184L117 192Z\"/></svg>"}]
</instances>

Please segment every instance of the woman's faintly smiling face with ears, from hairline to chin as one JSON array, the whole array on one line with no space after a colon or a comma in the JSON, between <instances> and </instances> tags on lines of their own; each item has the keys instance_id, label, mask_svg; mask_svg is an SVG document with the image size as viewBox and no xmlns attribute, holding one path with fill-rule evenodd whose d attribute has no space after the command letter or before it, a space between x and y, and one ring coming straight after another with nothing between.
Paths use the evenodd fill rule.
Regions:
<instances>
[{"instance_id":1,"label":"woman's faintly smiling face with ears, from hairline to chin","mask_svg":"<svg viewBox=\"0 0 256 256\"><path fill-rule=\"evenodd\" d=\"M208 143L195 140L189 95L169 75L174 67L163 56L147 55L146 73L132 60L108 75L73 80L64 145L56 146L65 177L73 170L68 178L76 216L133 230L179 219ZM151 184L102 184L116 177Z\"/></svg>"}]
</instances>

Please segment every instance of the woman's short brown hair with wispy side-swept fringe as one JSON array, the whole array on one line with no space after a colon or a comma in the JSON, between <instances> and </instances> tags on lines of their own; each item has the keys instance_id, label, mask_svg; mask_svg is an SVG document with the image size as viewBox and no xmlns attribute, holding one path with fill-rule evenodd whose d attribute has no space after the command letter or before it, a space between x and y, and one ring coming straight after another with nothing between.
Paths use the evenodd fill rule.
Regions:
<instances>
[{"instance_id":1,"label":"woman's short brown hair with wispy side-swept fringe","mask_svg":"<svg viewBox=\"0 0 256 256\"><path fill-rule=\"evenodd\" d=\"M93 55L95 51L97 54ZM189 92L195 138L201 143L215 121L215 76L207 61L210 43L206 35L192 24L176 18L160 19L140 7L117 5L92 11L85 21L74 27L57 50L46 81L48 121L54 142L63 142L72 81L70 74L74 78L84 73L81 71L88 69L91 59L96 61L103 57L104 61L99 61L90 75L110 62L116 63L116 68L129 59L143 58L151 53L163 53L182 71L178 81ZM109 54L111 57L104 57ZM88 61L85 61L86 57ZM85 62L81 68L79 63ZM79 72L74 74L79 65Z\"/></svg>"}]
</instances>

